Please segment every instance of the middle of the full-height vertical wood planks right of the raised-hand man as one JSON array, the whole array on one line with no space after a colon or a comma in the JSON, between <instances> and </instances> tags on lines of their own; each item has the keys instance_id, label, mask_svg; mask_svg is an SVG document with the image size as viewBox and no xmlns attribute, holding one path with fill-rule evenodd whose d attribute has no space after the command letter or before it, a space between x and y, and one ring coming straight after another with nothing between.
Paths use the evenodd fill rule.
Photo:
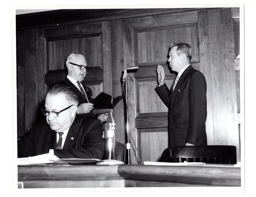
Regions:
<instances>
[{"instance_id":1,"label":"middle of the full-height vertical wood planks right of the raised-hand man","mask_svg":"<svg viewBox=\"0 0 256 197\"><path fill-rule=\"evenodd\" d=\"M220 9L208 10L214 145L228 145Z\"/></svg>"}]
</instances>

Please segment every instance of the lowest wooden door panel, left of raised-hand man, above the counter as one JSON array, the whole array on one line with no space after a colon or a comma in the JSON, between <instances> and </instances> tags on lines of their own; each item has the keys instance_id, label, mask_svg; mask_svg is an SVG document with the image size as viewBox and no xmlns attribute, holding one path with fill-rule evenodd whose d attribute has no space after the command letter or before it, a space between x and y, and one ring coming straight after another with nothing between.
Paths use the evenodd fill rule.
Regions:
<instances>
[{"instance_id":1,"label":"lowest wooden door panel, left of raised-hand man, above the counter","mask_svg":"<svg viewBox=\"0 0 256 197\"><path fill-rule=\"evenodd\" d=\"M141 163L144 161L159 161L163 151L169 147L169 129L138 129ZM154 153L154 154L152 154Z\"/></svg>"}]
</instances>

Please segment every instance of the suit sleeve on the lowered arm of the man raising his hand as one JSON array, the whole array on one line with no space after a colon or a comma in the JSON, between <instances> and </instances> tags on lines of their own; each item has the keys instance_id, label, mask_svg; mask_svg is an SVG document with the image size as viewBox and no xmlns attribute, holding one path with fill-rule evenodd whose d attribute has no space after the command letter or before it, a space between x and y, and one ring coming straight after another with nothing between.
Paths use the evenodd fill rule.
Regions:
<instances>
[{"instance_id":1,"label":"suit sleeve on the lowered arm of the man raising his hand","mask_svg":"<svg viewBox=\"0 0 256 197\"><path fill-rule=\"evenodd\" d=\"M186 142L194 145L207 145L206 117L206 81L204 75L196 71L191 75L189 82L189 122Z\"/></svg>"}]
</instances>

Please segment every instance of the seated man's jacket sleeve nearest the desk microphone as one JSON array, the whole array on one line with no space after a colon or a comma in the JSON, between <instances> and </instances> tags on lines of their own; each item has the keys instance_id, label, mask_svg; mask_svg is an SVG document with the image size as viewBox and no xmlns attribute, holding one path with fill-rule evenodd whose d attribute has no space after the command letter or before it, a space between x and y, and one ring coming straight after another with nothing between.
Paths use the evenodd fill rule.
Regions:
<instances>
[{"instance_id":1,"label":"seated man's jacket sleeve nearest the desk microphone","mask_svg":"<svg viewBox=\"0 0 256 197\"><path fill-rule=\"evenodd\" d=\"M104 141L102 139L102 123L100 120L93 120L83 124L80 128L83 133L81 140L77 140L76 147L71 149L54 149L54 155L59 158L84 158L102 159L104 153Z\"/></svg>"}]
</instances>

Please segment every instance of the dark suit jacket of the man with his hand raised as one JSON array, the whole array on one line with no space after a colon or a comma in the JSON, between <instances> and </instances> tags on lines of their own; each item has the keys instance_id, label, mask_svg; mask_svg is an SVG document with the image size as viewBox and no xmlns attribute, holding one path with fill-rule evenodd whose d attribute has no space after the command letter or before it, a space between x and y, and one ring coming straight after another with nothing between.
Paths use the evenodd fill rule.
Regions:
<instances>
[{"instance_id":1,"label":"dark suit jacket of the man with his hand raised","mask_svg":"<svg viewBox=\"0 0 256 197\"><path fill-rule=\"evenodd\" d=\"M204 75L189 65L181 74L173 92L166 84L157 86L155 90L169 107L170 146L184 146L187 142L207 145Z\"/></svg>"}]
</instances>

